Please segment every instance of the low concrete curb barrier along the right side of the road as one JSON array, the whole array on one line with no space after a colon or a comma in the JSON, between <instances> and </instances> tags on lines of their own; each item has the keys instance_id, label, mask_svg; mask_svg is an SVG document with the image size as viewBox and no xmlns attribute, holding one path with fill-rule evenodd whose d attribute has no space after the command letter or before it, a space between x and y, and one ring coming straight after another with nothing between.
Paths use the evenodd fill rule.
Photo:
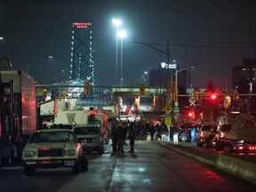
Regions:
<instances>
[{"instance_id":1,"label":"low concrete curb barrier along the right side of the road","mask_svg":"<svg viewBox=\"0 0 256 192\"><path fill-rule=\"evenodd\" d=\"M184 156L191 157L201 163L209 164L220 171L228 172L238 178L247 180L256 185L256 164L252 164L251 162L247 162L233 156L221 154L216 154L213 159L209 160L203 156L189 153L188 151L182 150L180 148L175 148L172 145L166 145L160 142L159 145L163 146L164 148L172 149Z\"/></svg>"}]
</instances>

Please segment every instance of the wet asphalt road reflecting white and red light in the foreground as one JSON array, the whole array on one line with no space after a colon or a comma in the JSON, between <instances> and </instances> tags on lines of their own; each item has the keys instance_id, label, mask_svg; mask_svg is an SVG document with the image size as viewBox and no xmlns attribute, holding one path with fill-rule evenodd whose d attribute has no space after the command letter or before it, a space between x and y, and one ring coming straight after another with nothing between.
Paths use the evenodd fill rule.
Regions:
<instances>
[{"instance_id":1,"label":"wet asphalt road reflecting white and red light in the foreground","mask_svg":"<svg viewBox=\"0 0 256 192\"><path fill-rule=\"evenodd\" d=\"M25 176L21 167L0 169L1 192L164 192L254 191L254 185L164 148L137 141L136 156L89 155L89 171L73 175L68 169L40 170ZM127 151L128 148L125 148Z\"/></svg>"}]
</instances>

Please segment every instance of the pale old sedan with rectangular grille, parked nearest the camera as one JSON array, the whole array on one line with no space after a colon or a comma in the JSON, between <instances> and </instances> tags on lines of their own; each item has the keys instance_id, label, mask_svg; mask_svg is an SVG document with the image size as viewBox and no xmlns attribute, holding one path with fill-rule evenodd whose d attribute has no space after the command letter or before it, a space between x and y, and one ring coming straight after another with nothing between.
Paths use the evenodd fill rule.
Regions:
<instances>
[{"instance_id":1,"label":"pale old sedan with rectangular grille, parked nearest the camera","mask_svg":"<svg viewBox=\"0 0 256 192\"><path fill-rule=\"evenodd\" d=\"M47 129L30 136L22 151L24 172L36 168L70 167L73 172L88 170L81 143L70 130Z\"/></svg>"}]
</instances>

